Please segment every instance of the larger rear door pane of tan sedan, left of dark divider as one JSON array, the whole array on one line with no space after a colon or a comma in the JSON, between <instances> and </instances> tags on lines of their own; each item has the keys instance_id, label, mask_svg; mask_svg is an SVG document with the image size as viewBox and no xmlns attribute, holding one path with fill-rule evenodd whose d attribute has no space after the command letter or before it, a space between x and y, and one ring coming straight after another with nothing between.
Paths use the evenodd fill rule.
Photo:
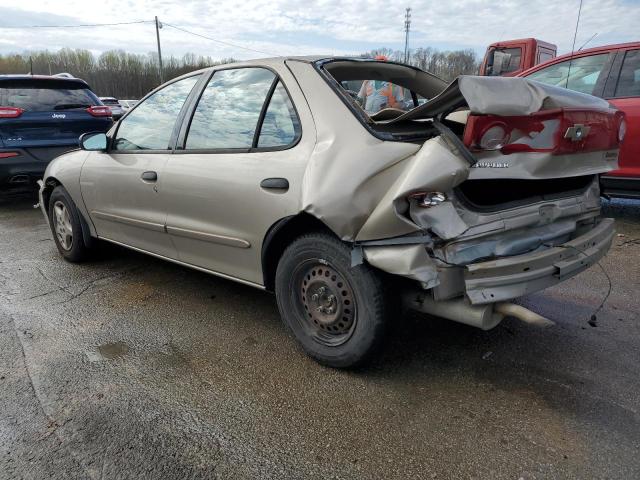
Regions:
<instances>
[{"instance_id":1,"label":"larger rear door pane of tan sedan, left of dark divider","mask_svg":"<svg viewBox=\"0 0 640 480\"><path fill-rule=\"evenodd\" d=\"M275 78L266 68L214 73L193 114L185 148L251 148Z\"/></svg>"}]
</instances>

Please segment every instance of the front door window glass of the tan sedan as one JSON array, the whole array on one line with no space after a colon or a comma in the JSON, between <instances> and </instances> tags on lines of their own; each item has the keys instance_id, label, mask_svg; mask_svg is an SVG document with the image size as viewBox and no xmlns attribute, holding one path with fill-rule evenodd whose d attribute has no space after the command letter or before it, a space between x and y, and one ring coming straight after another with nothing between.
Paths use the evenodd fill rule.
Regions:
<instances>
[{"instance_id":1,"label":"front door window glass of the tan sedan","mask_svg":"<svg viewBox=\"0 0 640 480\"><path fill-rule=\"evenodd\" d=\"M167 150L178 114L200 75L173 82L148 97L121 121L115 150Z\"/></svg>"}]
</instances>

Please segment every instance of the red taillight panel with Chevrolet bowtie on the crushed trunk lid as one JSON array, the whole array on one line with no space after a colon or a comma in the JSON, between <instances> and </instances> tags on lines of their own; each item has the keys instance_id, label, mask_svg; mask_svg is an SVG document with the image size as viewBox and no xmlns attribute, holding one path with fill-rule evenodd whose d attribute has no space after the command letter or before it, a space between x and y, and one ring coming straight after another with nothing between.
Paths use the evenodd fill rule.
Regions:
<instances>
[{"instance_id":1,"label":"red taillight panel with Chevrolet bowtie on the crushed trunk lid","mask_svg":"<svg viewBox=\"0 0 640 480\"><path fill-rule=\"evenodd\" d=\"M556 109L532 115L469 115L464 143L472 151L552 155L613 150L626 125L619 110Z\"/></svg>"}]
</instances>

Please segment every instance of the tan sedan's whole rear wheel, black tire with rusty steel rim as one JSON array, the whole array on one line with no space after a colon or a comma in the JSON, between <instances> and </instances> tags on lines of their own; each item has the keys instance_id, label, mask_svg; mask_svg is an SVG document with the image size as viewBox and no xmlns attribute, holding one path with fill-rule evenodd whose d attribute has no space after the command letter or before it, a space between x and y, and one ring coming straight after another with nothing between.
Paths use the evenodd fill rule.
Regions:
<instances>
[{"instance_id":1,"label":"tan sedan's whole rear wheel, black tire with rusty steel rim","mask_svg":"<svg viewBox=\"0 0 640 480\"><path fill-rule=\"evenodd\" d=\"M366 264L351 267L350 250L337 238L313 233L294 240L278 262L275 290L284 324L319 363L362 366L381 347L381 276Z\"/></svg>"}]
</instances>

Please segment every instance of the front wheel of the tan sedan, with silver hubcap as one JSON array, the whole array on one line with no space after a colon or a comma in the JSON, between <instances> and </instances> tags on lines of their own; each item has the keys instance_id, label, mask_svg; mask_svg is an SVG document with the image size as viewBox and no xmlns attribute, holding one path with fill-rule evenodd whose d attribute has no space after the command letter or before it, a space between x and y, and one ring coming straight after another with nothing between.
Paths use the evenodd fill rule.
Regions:
<instances>
[{"instance_id":1,"label":"front wheel of the tan sedan, with silver hubcap","mask_svg":"<svg viewBox=\"0 0 640 480\"><path fill-rule=\"evenodd\" d=\"M62 185L58 185L49 197L49 227L60 255L73 263L91 256L91 249L82 235L80 212Z\"/></svg>"}]
</instances>

